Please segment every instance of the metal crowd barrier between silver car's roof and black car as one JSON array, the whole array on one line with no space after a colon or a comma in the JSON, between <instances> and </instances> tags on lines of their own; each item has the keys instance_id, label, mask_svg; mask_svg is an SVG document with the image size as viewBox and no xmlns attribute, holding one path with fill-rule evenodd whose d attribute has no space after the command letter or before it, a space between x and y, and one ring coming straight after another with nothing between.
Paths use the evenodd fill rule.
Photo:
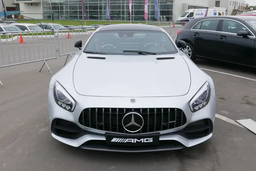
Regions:
<instances>
[{"instance_id":1,"label":"metal crowd barrier between silver car's roof and black car","mask_svg":"<svg viewBox=\"0 0 256 171\"><path fill-rule=\"evenodd\" d=\"M166 30L167 33L175 41L177 38L178 31L186 26L187 22L157 22L157 23L146 23L148 25L159 26Z\"/></svg>"}]
</instances>

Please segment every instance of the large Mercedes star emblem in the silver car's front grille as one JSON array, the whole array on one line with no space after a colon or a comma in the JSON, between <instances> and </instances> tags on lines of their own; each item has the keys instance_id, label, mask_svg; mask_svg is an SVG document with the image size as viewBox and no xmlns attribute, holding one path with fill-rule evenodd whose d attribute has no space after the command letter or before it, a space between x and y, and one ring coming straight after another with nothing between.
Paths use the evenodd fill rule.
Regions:
<instances>
[{"instance_id":1,"label":"large Mercedes star emblem in the silver car's front grille","mask_svg":"<svg viewBox=\"0 0 256 171\"><path fill-rule=\"evenodd\" d=\"M138 132L143 128L144 119L140 113L129 112L126 113L122 119L122 126L125 130L131 133Z\"/></svg>"}]
</instances>

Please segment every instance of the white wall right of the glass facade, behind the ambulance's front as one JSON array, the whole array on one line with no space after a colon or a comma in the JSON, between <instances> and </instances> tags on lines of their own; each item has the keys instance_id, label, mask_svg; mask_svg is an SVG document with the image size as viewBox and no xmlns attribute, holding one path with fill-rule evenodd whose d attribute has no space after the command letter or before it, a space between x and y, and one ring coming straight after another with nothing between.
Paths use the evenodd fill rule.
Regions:
<instances>
[{"instance_id":1,"label":"white wall right of the glass facade, behind the ambulance's front","mask_svg":"<svg viewBox=\"0 0 256 171\"><path fill-rule=\"evenodd\" d=\"M209 7L209 0L173 0L173 21L177 21L188 6Z\"/></svg>"}]
</instances>

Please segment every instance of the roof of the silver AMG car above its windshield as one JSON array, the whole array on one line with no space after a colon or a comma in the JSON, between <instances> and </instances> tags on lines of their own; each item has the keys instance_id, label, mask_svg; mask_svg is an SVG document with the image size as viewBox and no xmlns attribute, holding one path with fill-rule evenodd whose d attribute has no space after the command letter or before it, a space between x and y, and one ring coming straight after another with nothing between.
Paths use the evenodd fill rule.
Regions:
<instances>
[{"instance_id":1,"label":"roof of the silver AMG car above its windshield","mask_svg":"<svg viewBox=\"0 0 256 171\"><path fill-rule=\"evenodd\" d=\"M101 26L99 32L101 31L111 31L111 30L144 30L144 31L158 31L163 32L157 26L146 25L146 24L111 24Z\"/></svg>"}]
</instances>

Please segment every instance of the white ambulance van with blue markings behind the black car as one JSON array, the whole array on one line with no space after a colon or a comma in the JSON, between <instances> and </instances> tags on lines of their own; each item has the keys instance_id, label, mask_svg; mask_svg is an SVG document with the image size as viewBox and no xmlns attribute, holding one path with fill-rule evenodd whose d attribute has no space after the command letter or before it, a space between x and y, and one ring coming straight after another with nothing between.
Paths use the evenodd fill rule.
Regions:
<instances>
[{"instance_id":1,"label":"white ambulance van with blue markings behind the black car","mask_svg":"<svg viewBox=\"0 0 256 171\"><path fill-rule=\"evenodd\" d=\"M177 19L177 22L190 21L198 17L212 17L212 16L218 16L217 9L189 9Z\"/></svg>"}]
</instances>

